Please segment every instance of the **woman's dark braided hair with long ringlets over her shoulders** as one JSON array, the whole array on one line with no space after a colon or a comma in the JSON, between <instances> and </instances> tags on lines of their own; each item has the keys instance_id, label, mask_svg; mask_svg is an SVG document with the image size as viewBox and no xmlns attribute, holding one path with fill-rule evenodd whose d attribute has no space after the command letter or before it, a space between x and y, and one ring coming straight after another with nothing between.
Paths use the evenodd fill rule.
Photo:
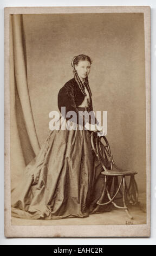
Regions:
<instances>
[{"instance_id":1,"label":"woman's dark braided hair with long ringlets over her shoulders","mask_svg":"<svg viewBox=\"0 0 156 256\"><path fill-rule=\"evenodd\" d=\"M80 54L78 56L75 56L72 59L72 63L71 63L72 67L74 68L73 69L74 78L75 78L76 82L79 84L79 88L80 88L81 92L86 96L85 87L84 87L83 83L81 82L80 77L77 74L77 71L75 69L75 65L77 65L80 62L80 60L88 60L88 62L90 62L90 64L92 64L92 60L90 59L89 56L87 56L85 54ZM88 92L89 92L90 97L91 97L92 93L91 93L91 90L90 90L90 87L89 87L88 77L85 78L85 86L87 87Z\"/></svg>"}]
</instances>

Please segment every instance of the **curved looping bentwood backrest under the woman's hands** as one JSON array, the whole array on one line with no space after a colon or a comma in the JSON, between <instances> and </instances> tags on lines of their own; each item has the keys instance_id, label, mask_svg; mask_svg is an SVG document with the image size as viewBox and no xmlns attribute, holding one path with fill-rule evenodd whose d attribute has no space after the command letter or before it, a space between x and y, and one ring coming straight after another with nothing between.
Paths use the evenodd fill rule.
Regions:
<instances>
[{"instance_id":1,"label":"curved looping bentwood backrest under the woman's hands","mask_svg":"<svg viewBox=\"0 0 156 256\"><path fill-rule=\"evenodd\" d=\"M98 136L97 133L91 133L91 144L95 155L98 157L101 166L107 172L115 166L111 148L105 136Z\"/></svg>"}]
</instances>

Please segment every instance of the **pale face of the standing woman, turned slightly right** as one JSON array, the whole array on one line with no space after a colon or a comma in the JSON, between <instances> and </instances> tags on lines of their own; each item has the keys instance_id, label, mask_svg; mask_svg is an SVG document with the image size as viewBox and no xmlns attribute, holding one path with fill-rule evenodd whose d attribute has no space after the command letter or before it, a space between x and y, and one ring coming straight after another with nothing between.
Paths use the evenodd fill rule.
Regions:
<instances>
[{"instance_id":1,"label":"pale face of the standing woman, turned slightly right","mask_svg":"<svg viewBox=\"0 0 156 256\"><path fill-rule=\"evenodd\" d=\"M91 64L88 60L80 60L78 64L75 65L75 69L81 80L84 80L89 75L90 67Z\"/></svg>"}]
</instances>

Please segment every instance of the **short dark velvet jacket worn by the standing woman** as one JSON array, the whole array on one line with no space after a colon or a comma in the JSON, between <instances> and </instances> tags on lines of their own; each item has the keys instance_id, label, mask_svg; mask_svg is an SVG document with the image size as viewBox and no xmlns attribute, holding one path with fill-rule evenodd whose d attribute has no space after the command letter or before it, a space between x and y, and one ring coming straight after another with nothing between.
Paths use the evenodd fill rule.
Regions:
<instances>
[{"instance_id":1,"label":"short dark velvet jacket worn by the standing woman","mask_svg":"<svg viewBox=\"0 0 156 256\"><path fill-rule=\"evenodd\" d=\"M68 111L75 111L77 114L77 121L79 117L79 105L83 102L85 95L81 92L79 85L77 84L75 78L70 79L64 86L60 89L58 94L58 107L61 112L61 107L66 107L66 113ZM88 112L93 111L92 98L90 96L89 106L87 109ZM67 118L66 119L70 119ZM83 119L84 121L84 119ZM95 118L96 122L96 118ZM89 121L90 123L90 121ZM84 122L83 122L84 125Z\"/></svg>"}]
</instances>

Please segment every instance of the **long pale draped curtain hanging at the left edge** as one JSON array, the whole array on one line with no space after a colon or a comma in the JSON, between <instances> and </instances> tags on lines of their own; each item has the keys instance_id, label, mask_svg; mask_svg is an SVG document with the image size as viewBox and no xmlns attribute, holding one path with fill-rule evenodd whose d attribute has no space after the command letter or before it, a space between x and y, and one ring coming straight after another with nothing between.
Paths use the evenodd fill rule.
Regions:
<instances>
[{"instance_id":1,"label":"long pale draped curtain hanging at the left edge","mask_svg":"<svg viewBox=\"0 0 156 256\"><path fill-rule=\"evenodd\" d=\"M10 160L11 188L40 150L32 115L23 16L10 15Z\"/></svg>"}]
</instances>

